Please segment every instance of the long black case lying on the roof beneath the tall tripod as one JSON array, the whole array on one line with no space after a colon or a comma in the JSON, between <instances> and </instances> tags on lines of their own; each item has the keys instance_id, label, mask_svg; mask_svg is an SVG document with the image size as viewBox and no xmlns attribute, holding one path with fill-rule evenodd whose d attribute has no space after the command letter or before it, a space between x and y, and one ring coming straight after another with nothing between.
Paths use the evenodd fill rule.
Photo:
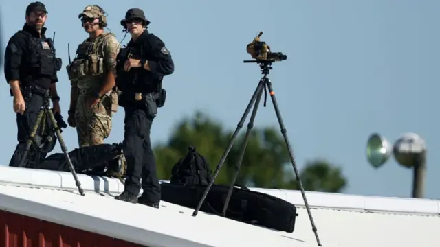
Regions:
<instances>
[{"instance_id":1,"label":"long black case lying on the roof beneath the tall tripod","mask_svg":"<svg viewBox=\"0 0 440 247\"><path fill-rule=\"evenodd\" d=\"M206 186L184 186L162 183L162 200L195 209ZM221 215L228 186L212 185L200 211ZM281 198L234 187L225 217L248 224L293 233L296 220L294 204Z\"/></svg>"}]
</instances>

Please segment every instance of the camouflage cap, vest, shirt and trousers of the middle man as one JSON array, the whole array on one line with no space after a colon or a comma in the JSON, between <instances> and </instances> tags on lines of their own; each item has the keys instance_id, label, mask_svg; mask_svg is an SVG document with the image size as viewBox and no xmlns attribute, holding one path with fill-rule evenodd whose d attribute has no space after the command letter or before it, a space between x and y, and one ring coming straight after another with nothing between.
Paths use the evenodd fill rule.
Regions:
<instances>
[{"instance_id":1,"label":"camouflage cap, vest, shirt and trousers of the middle man","mask_svg":"<svg viewBox=\"0 0 440 247\"><path fill-rule=\"evenodd\" d=\"M95 6L84 12L100 14ZM75 123L80 147L104 143L112 128L111 118L118 110L118 93L109 91L93 108L87 108L87 99L100 91L109 71L115 71L115 57L119 42L112 33L104 33L96 39L87 38L78 46L76 58L70 65L69 80L78 87ZM93 97L93 96L92 96Z\"/></svg>"}]
</instances>

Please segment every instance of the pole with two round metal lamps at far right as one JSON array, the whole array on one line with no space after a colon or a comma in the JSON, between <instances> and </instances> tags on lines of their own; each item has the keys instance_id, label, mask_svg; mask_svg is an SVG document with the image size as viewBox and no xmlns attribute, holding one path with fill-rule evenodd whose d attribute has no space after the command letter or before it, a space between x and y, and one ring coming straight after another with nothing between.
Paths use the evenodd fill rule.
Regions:
<instances>
[{"instance_id":1,"label":"pole with two round metal lamps at far right","mask_svg":"<svg viewBox=\"0 0 440 247\"><path fill-rule=\"evenodd\" d=\"M394 154L394 158L401 166L412 168L412 197L423 198L426 176L426 144L418 134L402 134L391 147L390 142L373 133L366 143L366 158L369 163L379 168Z\"/></svg>"}]
</instances>

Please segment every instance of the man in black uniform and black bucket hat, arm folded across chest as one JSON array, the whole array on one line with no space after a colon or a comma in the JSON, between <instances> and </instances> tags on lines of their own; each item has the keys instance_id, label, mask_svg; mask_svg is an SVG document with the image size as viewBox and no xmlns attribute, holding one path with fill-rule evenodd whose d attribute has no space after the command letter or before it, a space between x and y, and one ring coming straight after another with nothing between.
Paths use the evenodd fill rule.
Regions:
<instances>
[{"instance_id":1,"label":"man in black uniform and black bucket hat, arm folded across chest","mask_svg":"<svg viewBox=\"0 0 440 247\"><path fill-rule=\"evenodd\" d=\"M122 92L119 104L125 110L123 150L127 170L125 189L115 199L158 208L160 185L150 130L157 108L165 102L162 80L174 72L174 62L164 42L148 32L148 24L144 11L138 8L128 10L121 21L124 31L131 34L116 59L116 85ZM144 192L137 198L141 186Z\"/></svg>"}]
</instances>

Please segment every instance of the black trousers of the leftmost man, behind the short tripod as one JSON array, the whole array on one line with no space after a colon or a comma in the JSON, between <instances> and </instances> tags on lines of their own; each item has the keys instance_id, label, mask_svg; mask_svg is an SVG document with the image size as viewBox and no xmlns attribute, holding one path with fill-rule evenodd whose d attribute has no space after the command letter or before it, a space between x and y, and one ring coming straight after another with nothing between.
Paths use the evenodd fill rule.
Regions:
<instances>
[{"instance_id":1,"label":"black trousers of the leftmost man, behind the short tripod","mask_svg":"<svg viewBox=\"0 0 440 247\"><path fill-rule=\"evenodd\" d=\"M26 141L29 139L30 132L35 125L36 117L41 110L41 106L43 106L43 95L32 94L30 97L25 97L25 113L21 115L17 113L17 140L19 144L15 148L14 154L12 154L12 158L9 162L9 166L19 167L21 158L25 153ZM26 156L26 161L23 163L23 167L26 168L35 168L45 159L46 154L38 152L34 145L31 145L31 148Z\"/></svg>"}]
</instances>

